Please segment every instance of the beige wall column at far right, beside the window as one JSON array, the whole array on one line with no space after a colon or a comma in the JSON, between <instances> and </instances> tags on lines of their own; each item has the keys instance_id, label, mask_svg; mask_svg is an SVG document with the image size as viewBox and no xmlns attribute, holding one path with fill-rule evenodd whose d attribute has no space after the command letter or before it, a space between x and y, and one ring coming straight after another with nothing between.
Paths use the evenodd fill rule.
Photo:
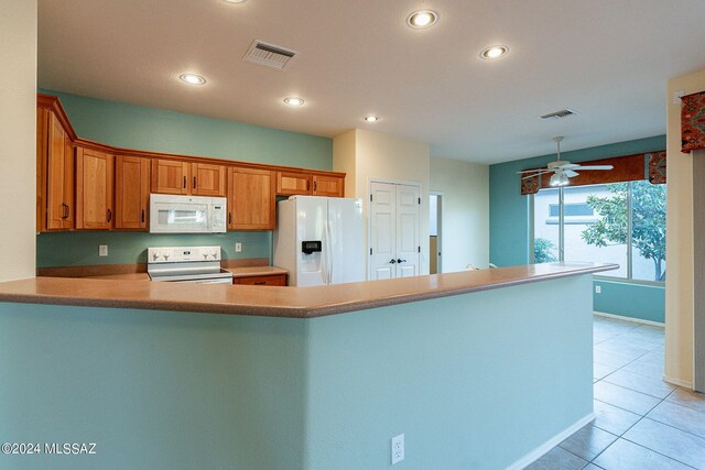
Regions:
<instances>
[{"instance_id":1,"label":"beige wall column at far right, beside the window","mask_svg":"<svg viewBox=\"0 0 705 470\"><path fill-rule=\"evenodd\" d=\"M665 378L693 383L693 156L681 153L681 103L673 95L705 90L705 70L669 80L666 207Z\"/></svg>"}]
</instances>

